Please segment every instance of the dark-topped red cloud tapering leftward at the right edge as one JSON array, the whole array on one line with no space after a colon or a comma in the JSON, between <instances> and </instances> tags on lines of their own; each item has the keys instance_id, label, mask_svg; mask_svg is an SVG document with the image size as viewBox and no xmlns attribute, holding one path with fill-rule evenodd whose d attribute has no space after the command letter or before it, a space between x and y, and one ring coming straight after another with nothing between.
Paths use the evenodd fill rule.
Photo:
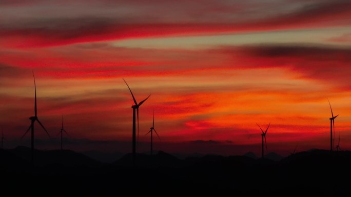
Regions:
<instances>
[{"instance_id":1,"label":"dark-topped red cloud tapering leftward at the right edge","mask_svg":"<svg viewBox=\"0 0 351 197\"><path fill-rule=\"evenodd\" d=\"M338 89L351 89L351 50L328 46L261 45L222 48L240 68L285 67L300 77L319 80Z\"/></svg>"}]
</instances>

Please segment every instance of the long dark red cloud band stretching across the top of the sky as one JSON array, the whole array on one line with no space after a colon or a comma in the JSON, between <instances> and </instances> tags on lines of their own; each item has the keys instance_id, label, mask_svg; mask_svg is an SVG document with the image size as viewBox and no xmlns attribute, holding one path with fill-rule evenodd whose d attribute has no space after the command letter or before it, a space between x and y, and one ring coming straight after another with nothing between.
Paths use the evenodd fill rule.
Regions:
<instances>
[{"instance_id":1,"label":"long dark red cloud band stretching across the top of the sky","mask_svg":"<svg viewBox=\"0 0 351 197\"><path fill-rule=\"evenodd\" d=\"M93 6L93 5L92 5ZM192 5L192 6L197 6ZM272 5L270 9L274 9ZM220 6L222 9L226 6ZM236 7L230 7L236 14L249 13L247 7L240 11ZM269 6L267 6L269 7ZM95 16L77 16L71 18L48 17L42 19L23 19L25 23L7 23L0 26L0 44L8 47L43 47L67 45L72 43L85 43L95 41L120 40L134 37L160 37L171 35L194 35L215 34L226 32L255 32L284 29L317 28L330 26L348 25L351 18L351 3L349 1L318 2L308 6L300 6L300 9L288 13L275 13L266 15L267 7L258 6L262 17L259 19L245 18L243 20L226 18L221 16L222 9L212 10L219 15L217 21L194 21L191 9L184 11L184 18L175 17L171 22L164 21L162 17L154 16L141 20L131 19L130 16L105 16L96 13ZM59 9L56 8L55 9ZM135 8L136 9L136 8ZM165 7L164 9L169 9ZM197 9L197 7L194 7ZM245 10L247 9L247 10ZM277 9L282 9L277 7ZM199 13L200 10L198 11ZM225 13L230 10L225 10ZM133 13L138 14L138 13ZM146 14L147 15L147 14ZM271 16L273 15L273 16ZM49 15L50 16L50 15ZM118 19L115 19L118 18ZM212 19L213 20L213 19ZM22 25L20 25L22 24Z\"/></svg>"}]
</instances>

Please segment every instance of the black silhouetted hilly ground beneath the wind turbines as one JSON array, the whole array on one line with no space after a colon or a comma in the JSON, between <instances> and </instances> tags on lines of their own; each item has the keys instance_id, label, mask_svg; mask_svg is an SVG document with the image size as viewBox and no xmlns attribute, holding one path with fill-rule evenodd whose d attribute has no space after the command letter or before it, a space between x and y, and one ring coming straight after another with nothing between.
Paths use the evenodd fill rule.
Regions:
<instances>
[{"instance_id":1,"label":"black silhouetted hilly ground beneath the wind turbines","mask_svg":"<svg viewBox=\"0 0 351 197\"><path fill-rule=\"evenodd\" d=\"M127 154L103 164L69 150L0 150L0 190L9 196L351 196L351 152L299 152L280 162L247 156ZM4 195L5 196L5 195Z\"/></svg>"}]
</instances>

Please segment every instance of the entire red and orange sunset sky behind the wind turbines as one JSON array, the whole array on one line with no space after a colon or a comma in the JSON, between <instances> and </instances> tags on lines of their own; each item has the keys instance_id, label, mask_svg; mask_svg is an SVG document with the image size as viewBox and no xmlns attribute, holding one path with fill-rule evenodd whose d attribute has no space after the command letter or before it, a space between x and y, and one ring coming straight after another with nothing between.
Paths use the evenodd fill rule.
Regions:
<instances>
[{"instance_id":1,"label":"entire red and orange sunset sky behind the wind turbines","mask_svg":"<svg viewBox=\"0 0 351 197\"><path fill-rule=\"evenodd\" d=\"M131 152L132 97L139 152L155 111L167 152L286 154L351 149L350 1L0 1L0 125L4 146L34 115L37 148Z\"/></svg>"}]
</instances>

